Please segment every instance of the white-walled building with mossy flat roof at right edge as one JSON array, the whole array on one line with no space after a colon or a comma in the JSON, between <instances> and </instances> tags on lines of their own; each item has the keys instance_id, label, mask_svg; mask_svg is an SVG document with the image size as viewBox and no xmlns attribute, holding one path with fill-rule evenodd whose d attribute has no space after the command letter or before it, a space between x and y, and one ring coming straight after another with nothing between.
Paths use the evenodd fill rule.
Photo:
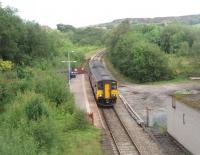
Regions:
<instances>
[{"instance_id":1,"label":"white-walled building with mossy flat roof at right edge","mask_svg":"<svg viewBox=\"0 0 200 155\"><path fill-rule=\"evenodd\" d=\"M167 131L194 155L200 155L200 93L172 96Z\"/></svg>"}]
</instances>

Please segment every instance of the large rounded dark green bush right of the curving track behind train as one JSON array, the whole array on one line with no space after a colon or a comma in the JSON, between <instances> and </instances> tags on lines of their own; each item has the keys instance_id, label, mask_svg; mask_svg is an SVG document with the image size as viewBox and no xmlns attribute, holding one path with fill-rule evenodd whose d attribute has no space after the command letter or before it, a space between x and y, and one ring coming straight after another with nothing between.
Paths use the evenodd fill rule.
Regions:
<instances>
[{"instance_id":1,"label":"large rounded dark green bush right of the curving track behind train","mask_svg":"<svg viewBox=\"0 0 200 155\"><path fill-rule=\"evenodd\" d=\"M120 37L110 59L126 76L138 82L151 82L169 79L172 72L167 64L167 57L148 41L138 40L139 34L125 34Z\"/></svg>"}]
</instances>

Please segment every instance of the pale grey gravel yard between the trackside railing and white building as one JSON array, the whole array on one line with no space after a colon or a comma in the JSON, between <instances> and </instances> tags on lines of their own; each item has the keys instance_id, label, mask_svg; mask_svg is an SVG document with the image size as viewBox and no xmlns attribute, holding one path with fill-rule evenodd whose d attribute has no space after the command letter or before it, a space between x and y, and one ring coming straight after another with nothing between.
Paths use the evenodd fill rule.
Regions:
<instances>
[{"instance_id":1,"label":"pale grey gravel yard between the trackside railing and white building","mask_svg":"<svg viewBox=\"0 0 200 155\"><path fill-rule=\"evenodd\" d=\"M200 82L160 85L123 84L119 87L120 93L146 123L162 127L166 127L166 108L167 104L172 102L170 95L182 89L200 90Z\"/></svg>"}]
</instances>

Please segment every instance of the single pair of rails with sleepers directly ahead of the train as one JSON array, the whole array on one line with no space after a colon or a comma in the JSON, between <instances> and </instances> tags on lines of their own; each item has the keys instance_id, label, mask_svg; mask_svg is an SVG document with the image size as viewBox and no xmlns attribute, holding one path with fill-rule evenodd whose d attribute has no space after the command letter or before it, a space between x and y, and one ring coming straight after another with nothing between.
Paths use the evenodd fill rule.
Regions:
<instances>
[{"instance_id":1,"label":"single pair of rails with sleepers directly ahead of the train","mask_svg":"<svg viewBox=\"0 0 200 155\"><path fill-rule=\"evenodd\" d=\"M140 155L137 145L131 138L115 108L102 109L102 114L119 155Z\"/></svg>"}]
</instances>

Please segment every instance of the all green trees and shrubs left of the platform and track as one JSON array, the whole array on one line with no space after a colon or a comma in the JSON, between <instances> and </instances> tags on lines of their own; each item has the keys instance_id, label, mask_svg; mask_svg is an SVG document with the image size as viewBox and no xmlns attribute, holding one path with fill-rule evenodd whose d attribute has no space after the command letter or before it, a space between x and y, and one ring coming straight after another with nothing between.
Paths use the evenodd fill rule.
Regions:
<instances>
[{"instance_id":1,"label":"all green trees and shrubs left of the platform and track","mask_svg":"<svg viewBox=\"0 0 200 155\"><path fill-rule=\"evenodd\" d=\"M0 154L102 154L99 131L59 71L68 51L79 65L96 48L0 6Z\"/></svg>"}]
</instances>

